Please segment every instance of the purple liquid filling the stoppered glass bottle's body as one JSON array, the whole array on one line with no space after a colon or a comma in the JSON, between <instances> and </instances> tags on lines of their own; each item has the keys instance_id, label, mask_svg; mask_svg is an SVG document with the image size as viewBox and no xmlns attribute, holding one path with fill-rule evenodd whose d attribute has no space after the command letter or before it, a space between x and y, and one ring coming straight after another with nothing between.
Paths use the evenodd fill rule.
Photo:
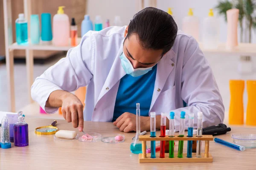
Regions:
<instances>
[{"instance_id":1,"label":"purple liquid filling the stoppered glass bottle's body","mask_svg":"<svg viewBox=\"0 0 256 170\"><path fill-rule=\"evenodd\" d=\"M14 127L14 145L27 146L29 145L29 125L28 124L15 124Z\"/></svg>"}]
</instances>

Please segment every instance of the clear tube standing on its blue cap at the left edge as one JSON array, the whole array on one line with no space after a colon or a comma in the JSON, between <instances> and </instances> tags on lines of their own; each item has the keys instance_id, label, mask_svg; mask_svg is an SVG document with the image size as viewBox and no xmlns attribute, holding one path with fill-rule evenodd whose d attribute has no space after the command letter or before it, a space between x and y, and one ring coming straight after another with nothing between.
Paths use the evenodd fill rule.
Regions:
<instances>
[{"instance_id":1,"label":"clear tube standing on its blue cap at the left edge","mask_svg":"<svg viewBox=\"0 0 256 170\"><path fill-rule=\"evenodd\" d=\"M10 131L9 131L9 121L6 116L3 117L1 122L1 147L3 149L10 148L11 142L10 142Z\"/></svg>"}]
</instances>

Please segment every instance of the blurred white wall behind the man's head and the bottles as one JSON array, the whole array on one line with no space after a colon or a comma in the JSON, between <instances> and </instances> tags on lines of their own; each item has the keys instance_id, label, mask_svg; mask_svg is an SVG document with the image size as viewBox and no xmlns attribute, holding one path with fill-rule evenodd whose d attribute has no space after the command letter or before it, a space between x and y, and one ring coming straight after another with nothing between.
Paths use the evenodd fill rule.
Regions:
<instances>
[{"instance_id":1,"label":"blurred white wall behind the man's head and the bottles","mask_svg":"<svg viewBox=\"0 0 256 170\"><path fill-rule=\"evenodd\" d=\"M145 1L145 7L148 6L148 0ZM157 0L157 8L164 11L168 7L172 8L173 15L178 27L181 29L182 19L189 11L189 8L194 9L194 15L200 20L202 28L204 17L208 16L209 8L214 8L219 0ZM123 25L128 25L130 19L137 12L135 5L136 0L87 0L87 13L94 20L96 15L101 15L103 23L106 19L110 19L110 24L113 24L115 15L121 16ZM107 8L110 6L110 8ZM214 9L215 16L220 21L220 41L225 42L227 39L227 24L223 16L218 16ZM239 31L238 31L239 32ZM238 36L239 38L239 36ZM256 42L256 31L253 31L252 42Z\"/></svg>"}]
</instances>

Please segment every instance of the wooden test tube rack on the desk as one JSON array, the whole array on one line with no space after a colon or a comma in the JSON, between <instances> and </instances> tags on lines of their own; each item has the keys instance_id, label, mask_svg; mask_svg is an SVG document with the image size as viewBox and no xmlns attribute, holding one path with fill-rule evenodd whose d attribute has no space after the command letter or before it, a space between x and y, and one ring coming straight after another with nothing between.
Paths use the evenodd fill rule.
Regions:
<instances>
[{"instance_id":1,"label":"wooden test tube rack on the desk","mask_svg":"<svg viewBox=\"0 0 256 170\"><path fill-rule=\"evenodd\" d=\"M142 153L139 154L139 163L163 163L163 162L212 162L212 155L209 153L209 141L213 140L212 135L202 135L202 137L150 137L149 135L139 136L142 141ZM192 158L187 158L187 153L184 152L183 158L178 158L177 153L174 153L174 158L169 158L169 153L165 153L165 158L160 158L160 153L156 153L156 158L150 158L151 153L146 153L147 141L205 141L204 153L201 152L202 157L197 158L196 153L192 153Z\"/></svg>"}]
</instances>

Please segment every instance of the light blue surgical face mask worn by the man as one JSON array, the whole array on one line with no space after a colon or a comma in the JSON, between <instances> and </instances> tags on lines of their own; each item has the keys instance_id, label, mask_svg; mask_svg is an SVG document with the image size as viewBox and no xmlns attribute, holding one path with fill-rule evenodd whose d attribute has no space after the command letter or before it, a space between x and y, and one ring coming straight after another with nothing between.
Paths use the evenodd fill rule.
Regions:
<instances>
[{"instance_id":1,"label":"light blue surgical face mask worn by the man","mask_svg":"<svg viewBox=\"0 0 256 170\"><path fill-rule=\"evenodd\" d=\"M134 69L130 60L125 56L124 53L121 54L120 56L121 59L121 63L122 63L122 67L125 70L126 74L130 74L132 77L138 77L138 76L142 76L146 73L148 73L148 71L151 71L152 67L148 67L148 68L136 68Z\"/></svg>"}]
</instances>

